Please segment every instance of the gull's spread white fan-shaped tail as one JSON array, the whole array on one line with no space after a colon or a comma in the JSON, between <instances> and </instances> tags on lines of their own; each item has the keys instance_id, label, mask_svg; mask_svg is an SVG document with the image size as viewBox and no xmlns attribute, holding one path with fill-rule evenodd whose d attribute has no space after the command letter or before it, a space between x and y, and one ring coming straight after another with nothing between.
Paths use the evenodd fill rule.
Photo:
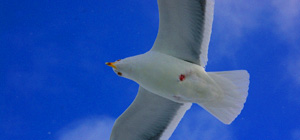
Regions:
<instances>
[{"instance_id":1,"label":"gull's spread white fan-shaped tail","mask_svg":"<svg viewBox=\"0 0 300 140\"><path fill-rule=\"evenodd\" d=\"M208 72L221 87L221 100L199 104L225 124L230 124L242 111L248 96L249 73L245 70Z\"/></svg>"}]
</instances>

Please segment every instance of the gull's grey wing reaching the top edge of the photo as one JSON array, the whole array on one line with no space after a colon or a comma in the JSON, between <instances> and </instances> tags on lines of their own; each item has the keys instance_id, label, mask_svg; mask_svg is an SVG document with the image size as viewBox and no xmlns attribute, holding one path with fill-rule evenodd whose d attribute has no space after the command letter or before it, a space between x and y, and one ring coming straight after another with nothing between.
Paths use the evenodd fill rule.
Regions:
<instances>
[{"instance_id":1,"label":"gull's grey wing reaching the top edge of the photo","mask_svg":"<svg viewBox=\"0 0 300 140\"><path fill-rule=\"evenodd\" d=\"M152 50L205 67L214 0L157 1L159 31Z\"/></svg>"}]
</instances>

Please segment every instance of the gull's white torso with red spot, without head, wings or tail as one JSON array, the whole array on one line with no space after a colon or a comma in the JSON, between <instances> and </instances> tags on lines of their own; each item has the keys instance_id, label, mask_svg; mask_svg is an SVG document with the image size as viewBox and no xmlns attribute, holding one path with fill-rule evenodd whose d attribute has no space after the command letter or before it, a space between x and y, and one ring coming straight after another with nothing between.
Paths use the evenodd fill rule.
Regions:
<instances>
[{"instance_id":1,"label":"gull's white torso with red spot, without head, wings or tail","mask_svg":"<svg viewBox=\"0 0 300 140\"><path fill-rule=\"evenodd\" d=\"M172 101L200 103L217 100L223 94L199 65L155 51L128 59L135 67L131 69L135 74L128 78ZM183 80L180 80L181 75L185 76Z\"/></svg>"}]
</instances>

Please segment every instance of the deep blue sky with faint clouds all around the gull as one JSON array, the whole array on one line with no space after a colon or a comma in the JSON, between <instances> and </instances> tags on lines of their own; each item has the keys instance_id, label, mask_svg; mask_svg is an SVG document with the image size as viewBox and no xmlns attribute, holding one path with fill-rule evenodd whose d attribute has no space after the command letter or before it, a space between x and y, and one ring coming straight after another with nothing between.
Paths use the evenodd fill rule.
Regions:
<instances>
[{"instance_id":1,"label":"deep blue sky with faint clouds all around the gull","mask_svg":"<svg viewBox=\"0 0 300 140\"><path fill-rule=\"evenodd\" d=\"M300 139L300 1L216 0L207 71L244 69L224 125L197 105L170 140ZM138 84L104 63L150 50L155 0L0 0L0 139L106 140Z\"/></svg>"}]
</instances>

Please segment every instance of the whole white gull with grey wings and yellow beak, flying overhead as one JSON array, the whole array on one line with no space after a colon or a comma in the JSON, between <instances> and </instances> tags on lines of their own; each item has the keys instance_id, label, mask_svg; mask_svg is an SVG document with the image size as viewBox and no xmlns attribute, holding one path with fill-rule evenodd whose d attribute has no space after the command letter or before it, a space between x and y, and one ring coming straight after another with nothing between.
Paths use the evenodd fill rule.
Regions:
<instances>
[{"instance_id":1,"label":"whole white gull with grey wings and yellow beak, flying overhead","mask_svg":"<svg viewBox=\"0 0 300 140\"><path fill-rule=\"evenodd\" d=\"M110 140L167 140L192 104L231 124L246 102L246 70L205 71L215 1L157 3L159 30L152 48L105 63L139 84L136 98L115 121Z\"/></svg>"}]
</instances>

